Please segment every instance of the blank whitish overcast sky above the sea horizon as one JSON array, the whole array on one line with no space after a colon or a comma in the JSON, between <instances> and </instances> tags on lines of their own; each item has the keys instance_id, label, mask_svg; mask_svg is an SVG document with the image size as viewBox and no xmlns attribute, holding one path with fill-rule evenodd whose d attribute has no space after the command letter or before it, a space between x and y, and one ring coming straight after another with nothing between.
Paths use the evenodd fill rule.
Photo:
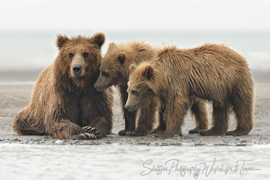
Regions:
<instances>
[{"instance_id":1,"label":"blank whitish overcast sky above the sea horizon","mask_svg":"<svg viewBox=\"0 0 270 180\"><path fill-rule=\"evenodd\" d=\"M6 31L269 31L270 1L1 1Z\"/></svg>"}]
</instances>

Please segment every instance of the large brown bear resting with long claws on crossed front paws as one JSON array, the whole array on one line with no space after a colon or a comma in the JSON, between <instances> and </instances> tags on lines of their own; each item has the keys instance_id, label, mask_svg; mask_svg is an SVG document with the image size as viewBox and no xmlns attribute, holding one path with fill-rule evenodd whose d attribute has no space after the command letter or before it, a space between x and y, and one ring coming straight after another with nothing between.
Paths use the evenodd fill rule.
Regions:
<instances>
[{"instance_id":1,"label":"large brown bear resting with long claws on crossed front paws","mask_svg":"<svg viewBox=\"0 0 270 180\"><path fill-rule=\"evenodd\" d=\"M57 36L59 54L37 79L30 103L16 115L12 124L15 133L80 140L111 132L112 90L99 92L93 86L104 41L103 33Z\"/></svg>"}]
</instances>

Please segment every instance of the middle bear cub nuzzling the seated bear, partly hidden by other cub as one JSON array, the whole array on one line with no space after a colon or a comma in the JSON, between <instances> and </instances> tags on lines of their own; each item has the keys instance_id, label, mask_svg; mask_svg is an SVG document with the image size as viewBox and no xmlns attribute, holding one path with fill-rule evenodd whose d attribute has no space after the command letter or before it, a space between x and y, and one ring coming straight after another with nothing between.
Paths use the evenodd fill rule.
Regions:
<instances>
[{"instance_id":1,"label":"middle bear cub nuzzling the seated bear, partly hidden by other cub","mask_svg":"<svg viewBox=\"0 0 270 180\"><path fill-rule=\"evenodd\" d=\"M156 53L155 48L144 42L137 41L120 45L112 42L101 61L100 75L94 87L98 91L106 90L112 85L118 88L122 113L125 118L125 129L120 131L119 135L143 136L152 130L152 121L155 120L157 106L156 99L147 97L143 99L145 103L139 111L137 128L137 111L128 111L125 109L125 103L128 99L126 90L130 65L150 61L154 59Z\"/></svg>"}]
</instances>

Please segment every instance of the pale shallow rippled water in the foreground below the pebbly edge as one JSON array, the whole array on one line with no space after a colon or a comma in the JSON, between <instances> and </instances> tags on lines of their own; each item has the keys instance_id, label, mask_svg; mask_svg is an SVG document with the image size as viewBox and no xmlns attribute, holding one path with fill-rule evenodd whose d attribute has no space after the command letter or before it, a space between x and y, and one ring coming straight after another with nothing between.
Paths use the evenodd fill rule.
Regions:
<instances>
[{"instance_id":1,"label":"pale shallow rippled water in the foreground below the pebbly edge","mask_svg":"<svg viewBox=\"0 0 270 180\"><path fill-rule=\"evenodd\" d=\"M270 145L249 146L147 146L147 145L29 145L0 144L0 179L195 179L195 171L150 171L153 165L176 165L201 167L198 179L268 179ZM143 164L152 159L152 163ZM214 162L214 159L215 162ZM237 160L255 159L246 162L244 167L253 171L210 172L215 167L233 167ZM150 161L149 161L150 162ZM204 165L209 169L202 172ZM238 165L241 169L243 162ZM183 169L182 169L183 170ZM144 171L144 172L143 172ZM150 172L150 173L149 173ZM147 175L140 175L140 174ZM209 174L208 174L209 173ZM206 177L207 174L207 177ZM182 177L183 176L183 177Z\"/></svg>"}]
</instances>

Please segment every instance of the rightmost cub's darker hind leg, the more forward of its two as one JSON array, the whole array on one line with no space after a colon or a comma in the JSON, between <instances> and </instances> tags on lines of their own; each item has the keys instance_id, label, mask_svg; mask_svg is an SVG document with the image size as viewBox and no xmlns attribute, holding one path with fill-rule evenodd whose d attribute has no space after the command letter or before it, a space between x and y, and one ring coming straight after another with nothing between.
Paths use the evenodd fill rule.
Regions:
<instances>
[{"instance_id":1,"label":"rightmost cub's darker hind leg, the more forward of its two","mask_svg":"<svg viewBox=\"0 0 270 180\"><path fill-rule=\"evenodd\" d=\"M203 136L214 136L224 134L229 128L229 112L228 104L216 105L213 103L212 127L199 132Z\"/></svg>"}]
</instances>

